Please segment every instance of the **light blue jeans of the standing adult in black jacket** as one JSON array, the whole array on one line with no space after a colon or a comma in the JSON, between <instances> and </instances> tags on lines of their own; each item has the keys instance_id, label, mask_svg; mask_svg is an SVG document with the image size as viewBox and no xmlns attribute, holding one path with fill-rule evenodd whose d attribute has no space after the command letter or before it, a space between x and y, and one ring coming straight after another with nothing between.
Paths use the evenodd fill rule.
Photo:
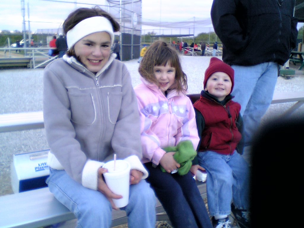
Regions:
<instances>
[{"instance_id":1,"label":"light blue jeans of the standing adult in black jacket","mask_svg":"<svg viewBox=\"0 0 304 228\"><path fill-rule=\"evenodd\" d=\"M252 137L260 125L271 104L275 84L278 79L278 64L267 62L255 66L231 66L234 70L233 101L241 105L240 114L244 121L245 143L251 143Z\"/></svg>"}]
</instances>

